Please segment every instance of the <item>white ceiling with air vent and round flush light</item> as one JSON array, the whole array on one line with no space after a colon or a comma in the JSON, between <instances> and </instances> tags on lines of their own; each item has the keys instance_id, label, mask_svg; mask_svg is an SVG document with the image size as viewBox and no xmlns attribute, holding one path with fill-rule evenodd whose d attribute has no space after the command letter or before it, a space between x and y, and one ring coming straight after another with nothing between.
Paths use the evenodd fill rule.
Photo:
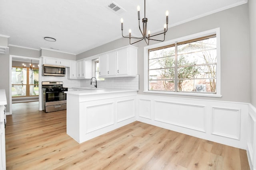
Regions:
<instances>
[{"instance_id":1,"label":"white ceiling with air vent and round flush light","mask_svg":"<svg viewBox=\"0 0 256 170\"><path fill-rule=\"evenodd\" d=\"M151 34L162 30L169 11L168 27L214 12L232 8L248 0L146 0L146 18ZM144 18L143 0L114 0L125 11L112 12L112 0L0 0L0 35L10 36L9 45L32 49L56 48L79 54L121 38L132 29L139 35L137 6ZM171 33L171 32L167 32ZM54 37L57 41L45 41ZM129 44L127 40L127 45Z\"/></svg>"}]
</instances>

